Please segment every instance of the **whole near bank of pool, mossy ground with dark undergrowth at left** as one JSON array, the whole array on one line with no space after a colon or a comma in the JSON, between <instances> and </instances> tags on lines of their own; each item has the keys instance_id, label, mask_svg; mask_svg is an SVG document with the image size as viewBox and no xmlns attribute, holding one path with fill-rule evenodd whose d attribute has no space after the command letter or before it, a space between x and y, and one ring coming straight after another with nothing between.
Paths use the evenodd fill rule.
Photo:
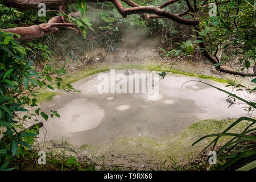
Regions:
<instances>
[{"instance_id":1,"label":"whole near bank of pool, mossy ground with dark undergrowth at left","mask_svg":"<svg viewBox=\"0 0 256 182\"><path fill-rule=\"evenodd\" d=\"M24 157L11 160L10 167L15 167L18 170L95 170L95 167L100 165L101 169L110 170L200 170L202 166L197 164L189 164L187 167L183 167L183 165L193 159L193 156L199 154L210 140L204 139L194 147L192 147L192 143L204 135L221 133L234 121L236 119L202 120L164 141L148 137L125 137L115 139L102 146L84 144L80 148L66 142L63 143L63 141L60 141L60 144L48 142L46 146L51 150L47 152L46 166L38 165L37 152L32 150ZM248 126L247 122L241 122L230 132L240 133L246 126ZM220 139L218 145L223 144L227 139ZM57 147L54 148L54 146ZM74 157L85 156L85 154L87 157L82 160ZM202 165L206 165L206 163ZM139 168L141 164L146 168ZM117 166L120 167L116 168Z\"/></svg>"}]
</instances>

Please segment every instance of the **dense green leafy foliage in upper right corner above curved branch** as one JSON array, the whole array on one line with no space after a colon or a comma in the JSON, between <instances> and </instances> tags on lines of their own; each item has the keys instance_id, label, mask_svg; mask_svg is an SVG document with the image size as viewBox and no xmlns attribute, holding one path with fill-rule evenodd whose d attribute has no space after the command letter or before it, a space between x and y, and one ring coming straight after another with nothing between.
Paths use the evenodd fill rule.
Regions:
<instances>
[{"instance_id":1,"label":"dense green leafy foliage in upper right corner above curved branch","mask_svg":"<svg viewBox=\"0 0 256 182\"><path fill-rule=\"evenodd\" d=\"M218 59L219 66L237 60L234 66L241 71L255 65L255 7L254 1L232 0L225 5L217 5L217 15L208 16L200 24L199 40ZM201 50L204 51L204 50ZM220 56L221 55L221 56Z\"/></svg>"}]
</instances>

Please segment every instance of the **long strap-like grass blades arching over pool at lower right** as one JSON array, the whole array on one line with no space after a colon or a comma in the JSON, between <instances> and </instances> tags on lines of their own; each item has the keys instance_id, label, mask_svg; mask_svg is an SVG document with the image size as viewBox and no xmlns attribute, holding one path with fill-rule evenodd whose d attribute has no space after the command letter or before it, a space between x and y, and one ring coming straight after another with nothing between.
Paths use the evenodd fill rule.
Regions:
<instances>
[{"instance_id":1,"label":"long strap-like grass blades arching over pool at lower right","mask_svg":"<svg viewBox=\"0 0 256 182\"><path fill-rule=\"evenodd\" d=\"M199 81L201 82L201 81ZM205 82L202 82L204 84L207 84ZM235 94L229 93L225 90L222 90L220 88L217 88L216 86L207 84L209 86L212 86L222 92L228 93L230 96L236 97L238 100L241 100L248 104L250 107L253 107L254 109L256 108L256 104L251 101L246 101L241 97L236 96ZM228 133L230 129L238 125L238 123L242 121L247 121L248 126L246 127L245 130L242 131L242 133ZM218 164L221 165L219 170L224 170L228 168L237 168L240 167L240 170L250 170L256 167L255 164L255 158L256 158L256 136L250 135L252 133L255 133L256 127L255 126L256 120L253 118L248 118L248 117L241 117L237 119L236 122L232 123L226 130L224 130L222 133L217 133L217 134L210 134L206 135L193 143L193 146L203 140L204 138L210 138L210 137L215 137L212 142L210 142L207 147L204 148L207 149L213 144L212 150L217 145L218 140L221 137L232 137L228 142L226 142L222 147L220 147L217 150L217 160L219 160ZM203 151L204 151L203 150ZM201 151L201 152L203 152ZM220 162L220 160L222 162ZM242 166L242 167L241 167Z\"/></svg>"}]
</instances>

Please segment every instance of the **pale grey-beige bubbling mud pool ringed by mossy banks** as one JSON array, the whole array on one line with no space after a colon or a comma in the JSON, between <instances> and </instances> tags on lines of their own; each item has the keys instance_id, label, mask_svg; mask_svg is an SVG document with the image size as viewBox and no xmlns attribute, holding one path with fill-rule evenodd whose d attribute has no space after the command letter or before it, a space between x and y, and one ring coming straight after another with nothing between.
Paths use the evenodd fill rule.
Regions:
<instances>
[{"instance_id":1,"label":"pale grey-beige bubbling mud pool ringed by mossy banks","mask_svg":"<svg viewBox=\"0 0 256 182\"><path fill-rule=\"evenodd\" d=\"M116 73L125 75L125 70ZM57 110L61 117L44 122L47 133L40 129L39 140L44 136L47 140L64 138L79 145L99 145L121 137L164 140L201 119L246 115L246 111L241 109L245 104L229 107L230 103L226 101L228 94L205 84L187 82L181 88L186 81L200 80L229 92L232 90L219 82L170 73L159 82L158 98L149 100L147 93L98 93L97 87L101 82L97 79L98 74L72 84L80 93L63 93L40 106L48 114ZM248 96L246 92L236 94Z\"/></svg>"}]
</instances>

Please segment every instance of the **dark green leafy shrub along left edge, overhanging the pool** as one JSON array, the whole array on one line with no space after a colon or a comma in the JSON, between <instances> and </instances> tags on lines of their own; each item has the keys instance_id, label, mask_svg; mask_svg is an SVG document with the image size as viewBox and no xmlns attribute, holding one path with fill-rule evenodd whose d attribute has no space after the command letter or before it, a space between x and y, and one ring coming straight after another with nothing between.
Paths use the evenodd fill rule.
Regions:
<instances>
[{"instance_id":1,"label":"dark green leafy shrub along left edge, overhanging the pool","mask_svg":"<svg viewBox=\"0 0 256 182\"><path fill-rule=\"evenodd\" d=\"M46 60L51 60L46 53L47 47L39 44L34 48L40 49ZM55 84L56 88L65 88L67 92L74 90L71 85L61 86L64 66L56 69L46 64L42 72L36 72L33 61L27 57L29 51L32 49L14 40L14 34L0 31L0 169L6 169L10 158L24 155L34 143L39 127L24 130L27 119L34 123L39 122L39 115L48 119L48 114L36 104L36 88L54 89L52 85ZM57 111L52 113L60 117Z\"/></svg>"}]
</instances>

